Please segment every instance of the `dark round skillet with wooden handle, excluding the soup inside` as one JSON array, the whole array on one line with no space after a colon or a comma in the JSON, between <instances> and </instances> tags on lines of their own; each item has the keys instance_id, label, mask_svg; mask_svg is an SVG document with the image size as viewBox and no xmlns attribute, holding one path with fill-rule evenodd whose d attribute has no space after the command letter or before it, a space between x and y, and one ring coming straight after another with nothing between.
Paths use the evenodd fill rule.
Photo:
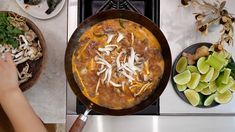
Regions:
<instances>
[{"instance_id":1,"label":"dark round skillet with wooden handle, excluding the soup inside","mask_svg":"<svg viewBox=\"0 0 235 132\"><path fill-rule=\"evenodd\" d=\"M162 55L165 61L165 67L164 67L165 71L163 73L162 79L159 82L156 90L153 91L153 93L146 100L142 101L140 104L134 107L128 108L128 109L121 109L121 110L113 110L113 109L105 108L105 107L96 105L95 103L91 102L88 98L86 98L86 96L82 94L82 91L79 88L79 84L76 83L73 72L72 72L72 55L74 51L77 49L78 40L80 36L83 34L83 32L89 29L90 27L92 27L96 23L99 23L107 19L114 19L114 18L123 18L123 19L134 21L144 26L149 31L151 31L161 45ZM82 128L84 127L85 121L87 119L86 116L91 109L96 112L103 113L103 114L120 116L120 115L129 115L129 114L136 113L140 110L143 110L147 106L151 105L156 99L159 98L161 93L164 91L168 83L169 77L170 77L171 65L172 65L171 52L170 52L168 42L166 38L164 37L163 33L161 32L161 30L158 28L158 26L156 26L148 18L138 13L127 11L127 10L108 10L108 11L97 13L87 18L74 31L72 37L69 40L66 53L65 53L65 72L66 72L66 76L70 84L70 87L72 88L73 92L76 94L78 99L87 107L85 114L79 115L79 117L73 124L70 131L74 131L74 132L82 131Z\"/></svg>"}]
</instances>

